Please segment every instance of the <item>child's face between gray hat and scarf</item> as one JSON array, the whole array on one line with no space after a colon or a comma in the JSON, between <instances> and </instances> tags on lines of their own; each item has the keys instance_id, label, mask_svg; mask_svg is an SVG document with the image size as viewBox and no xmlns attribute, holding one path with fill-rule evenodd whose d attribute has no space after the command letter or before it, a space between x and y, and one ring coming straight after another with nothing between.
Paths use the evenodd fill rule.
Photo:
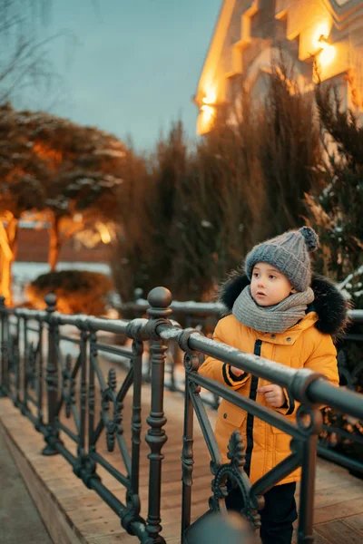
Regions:
<instances>
[{"instance_id":1,"label":"child's face between gray hat and scarf","mask_svg":"<svg viewBox=\"0 0 363 544\"><path fill-rule=\"evenodd\" d=\"M250 293L260 306L274 306L296 293L289 279L269 263L257 263L252 270Z\"/></svg>"}]
</instances>

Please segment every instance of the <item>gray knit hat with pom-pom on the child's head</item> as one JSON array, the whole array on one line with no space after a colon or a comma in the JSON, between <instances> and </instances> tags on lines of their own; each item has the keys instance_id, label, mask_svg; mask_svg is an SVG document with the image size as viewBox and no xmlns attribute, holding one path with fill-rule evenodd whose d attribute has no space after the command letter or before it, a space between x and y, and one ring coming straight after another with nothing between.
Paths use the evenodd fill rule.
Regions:
<instances>
[{"instance_id":1,"label":"gray knit hat with pom-pom on the child's head","mask_svg":"<svg viewBox=\"0 0 363 544\"><path fill-rule=\"evenodd\" d=\"M302 227L288 230L276 238L262 242L250 250L244 264L251 279L256 263L269 263L289 278L292 287L305 291L311 281L309 251L318 248L319 238L315 230Z\"/></svg>"}]
</instances>

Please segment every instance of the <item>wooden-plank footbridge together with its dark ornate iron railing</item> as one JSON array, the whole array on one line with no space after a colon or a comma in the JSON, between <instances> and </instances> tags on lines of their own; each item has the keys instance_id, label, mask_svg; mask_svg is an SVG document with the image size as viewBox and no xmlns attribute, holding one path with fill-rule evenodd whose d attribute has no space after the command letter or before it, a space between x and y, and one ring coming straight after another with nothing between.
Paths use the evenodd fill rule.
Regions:
<instances>
[{"instance_id":1,"label":"wooden-plank footbridge together with its dark ornate iron railing","mask_svg":"<svg viewBox=\"0 0 363 544\"><path fill-rule=\"evenodd\" d=\"M295 542L313 536L318 544L361 542L362 481L322 459L315 473L321 432L315 403L363 419L362 397L332 388L318 375L251 360L182 329L168 319L166 290L154 290L149 302L149 319L130 322L59 315L53 296L44 312L4 305L0 310L1 427L54 542L187 541L188 528L208 510L211 497L211 508L223 510L223 473L239 481L247 497L246 523L258 529L258 497L296 466L302 468L302 483ZM127 335L132 349L106 343L106 334ZM167 347L173 343L185 353L179 392L164 383ZM145 363L142 353L149 345ZM216 413L208 401L228 395L241 401L197 374L198 354L218 356L266 379L273 375L302 402L301 417L309 414L308 429L299 419L288 428L277 414L249 407L282 426L299 446L288 465L271 471L257 487L243 475L238 436L231 438L231 463L219 461L212 434Z\"/></svg>"}]
</instances>

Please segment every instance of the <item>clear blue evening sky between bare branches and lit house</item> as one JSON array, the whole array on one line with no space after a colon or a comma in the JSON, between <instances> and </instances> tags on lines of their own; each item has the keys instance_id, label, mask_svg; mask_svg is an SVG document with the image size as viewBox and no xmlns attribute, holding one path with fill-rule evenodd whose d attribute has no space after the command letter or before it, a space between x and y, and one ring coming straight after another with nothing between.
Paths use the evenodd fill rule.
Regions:
<instances>
[{"instance_id":1,"label":"clear blue evening sky between bare branches and lit house","mask_svg":"<svg viewBox=\"0 0 363 544\"><path fill-rule=\"evenodd\" d=\"M44 107L150 149L179 117L191 138L221 0L54 0L48 34L60 91ZM74 36L74 37L72 37ZM46 105L47 102L51 104ZM26 100L25 100L26 102Z\"/></svg>"}]
</instances>

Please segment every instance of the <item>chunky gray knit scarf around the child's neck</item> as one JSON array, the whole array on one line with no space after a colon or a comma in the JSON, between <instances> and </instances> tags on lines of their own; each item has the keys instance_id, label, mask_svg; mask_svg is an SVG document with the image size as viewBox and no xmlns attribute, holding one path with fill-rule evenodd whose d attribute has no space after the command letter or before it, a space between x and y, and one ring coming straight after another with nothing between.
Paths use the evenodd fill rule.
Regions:
<instances>
[{"instance_id":1,"label":"chunky gray knit scarf around the child's neck","mask_svg":"<svg viewBox=\"0 0 363 544\"><path fill-rule=\"evenodd\" d=\"M314 292L294 293L275 306L259 306L250 294L250 286L241 291L232 307L232 314L250 328L264 333L283 333L305 316L307 306L314 300Z\"/></svg>"}]
</instances>

